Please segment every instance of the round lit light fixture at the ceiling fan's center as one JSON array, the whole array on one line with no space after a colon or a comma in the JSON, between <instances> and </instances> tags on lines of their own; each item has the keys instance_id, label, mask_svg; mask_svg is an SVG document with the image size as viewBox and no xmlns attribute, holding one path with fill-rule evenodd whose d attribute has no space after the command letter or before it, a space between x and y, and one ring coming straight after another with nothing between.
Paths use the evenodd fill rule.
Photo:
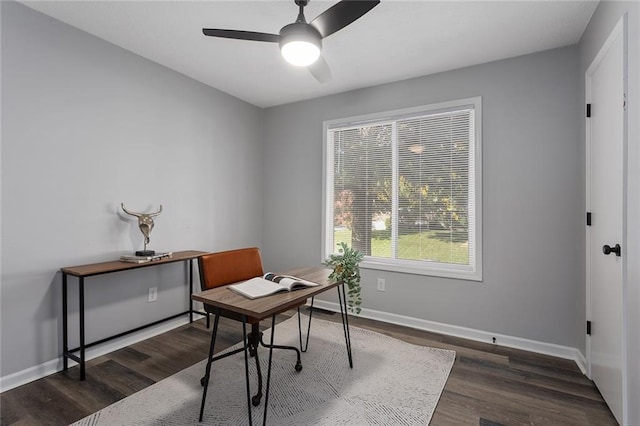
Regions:
<instances>
[{"instance_id":1,"label":"round lit light fixture at the ceiling fan's center","mask_svg":"<svg viewBox=\"0 0 640 426\"><path fill-rule=\"evenodd\" d=\"M306 67L320 57L322 36L311 25L296 22L280 31L280 53L291 65Z\"/></svg>"}]
</instances>

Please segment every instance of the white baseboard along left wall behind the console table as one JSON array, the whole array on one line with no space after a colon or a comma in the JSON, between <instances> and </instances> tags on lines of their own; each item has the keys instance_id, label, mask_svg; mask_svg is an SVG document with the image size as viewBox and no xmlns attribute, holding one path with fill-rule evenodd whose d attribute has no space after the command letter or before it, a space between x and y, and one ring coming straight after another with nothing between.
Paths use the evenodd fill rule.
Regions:
<instances>
[{"instance_id":1,"label":"white baseboard along left wall behind the console table","mask_svg":"<svg viewBox=\"0 0 640 426\"><path fill-rule=\"evenodd\" d=\"M125 348L127 346L133 345L134 343L140 342L153 336L157 336L158 334L165 333L169 330L173 330L174 328L188 323L189 318L186 315L184 317L174 318L172 320L154 325L135 333L131 333L126 336L102 343L100 345L93 346L86 350L85 357L87 360L97 358L99 356L108 354L118 349ZM77 365L77 363L73 360L69 360L69 367L74 365ZM38 380L50 374L57 373L58 371L62 371L61 356L42 364L29 367L22 371L17 371L15 373L0 377L0 392L5 392L18 386L25 385L27 383L33 382L34 380Z\"/></svg>"}]
</instances>

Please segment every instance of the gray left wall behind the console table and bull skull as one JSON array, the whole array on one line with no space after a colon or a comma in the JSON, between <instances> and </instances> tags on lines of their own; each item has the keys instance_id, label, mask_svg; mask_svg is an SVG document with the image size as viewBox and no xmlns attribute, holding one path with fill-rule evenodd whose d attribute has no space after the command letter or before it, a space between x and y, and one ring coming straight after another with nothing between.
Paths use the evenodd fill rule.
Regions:
<instances>
[{"instance_id":1,"label":"gray left wall behind the console table and bull skull","mask_svg":"<svg viewBox=\"0 0 640 426\"><path fill-rule=\"evenodd\" d=\"M6 376L60 356L60 267L141 249L121 201L163 204L152 249L260 244L262 110L20 4L1 8ZM162 268L87 280L88 339L184 310L184 268Z\"/></svg>"}]
</instances>

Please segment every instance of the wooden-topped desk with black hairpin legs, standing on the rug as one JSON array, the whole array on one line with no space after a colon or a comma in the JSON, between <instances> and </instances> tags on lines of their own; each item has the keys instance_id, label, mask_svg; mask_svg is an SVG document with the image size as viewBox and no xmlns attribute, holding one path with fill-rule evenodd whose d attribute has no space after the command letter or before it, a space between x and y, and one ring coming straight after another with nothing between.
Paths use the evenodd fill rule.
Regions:
<instances>
[{"instance_id":1,"label":"wooden-topped desk with black hairpin legs, standing on the rug","mask_svg":"<svg viewBox=\"0 0 640 426\"><path fill-rule=\"evenodd\" d=\"M302 288L290 292L281 292L272 296L261 297L258 299L249 299L241 296L231 290L228 286L216 287L210 290L203 291L201 293L195 293L191 296L193 300L202 302L206 305L216 308L216 315L211 333L211 346L209 348L209 358L207 362L205 376L202 380L204 390L202 392L202 404L200 406L200 421L202 421L204 413L204 405L207 397L207 389L209 386L209 378L211 374L211 364L214 361L213 353L216 341L216 333L218 330L218 320L220 318L219 309L234 312L242 317L242 335L244 342L244 364L245 364L245 380L247 386L247 408L249 413L249 425L252 425L251 417L251 391L249 389L249 364L247 358L247 331L246 323L247 318L257 318L263 320L271 317L271 345L269 347L269 364L267 372L267 385L265 390L264 399L264 418L263 424L267 422L267 408L269 401L269 384L271 379L271 359L273 355L273 336L275 334L275 319L276 315L288 311L289 309L300 306L307 299L324 293L332 288L338 290L338 299L340 302L340 314L342 316L342 325L344 328L344 337L347 347L347 357L349 359L349 366L353 368L353 358L351 356L351 338L349 335L349 320L347 316L347 299L346 291L343 283L337 283L329 281L329 274L331 270L325 268L307 267L296 268L283 272L284 275L293 275L298 278L302 278L308 281L320 283L317 287ZM311 321L311 318L309 318ZM310 324L309 324L310 325ZM307 331L308 333L309 331ZM307 334L308 338L308 334ZM302 345L302 336L300 336L300 344ZM224 356L224 355L223 355Z\"/></svg>"}]
</instances>

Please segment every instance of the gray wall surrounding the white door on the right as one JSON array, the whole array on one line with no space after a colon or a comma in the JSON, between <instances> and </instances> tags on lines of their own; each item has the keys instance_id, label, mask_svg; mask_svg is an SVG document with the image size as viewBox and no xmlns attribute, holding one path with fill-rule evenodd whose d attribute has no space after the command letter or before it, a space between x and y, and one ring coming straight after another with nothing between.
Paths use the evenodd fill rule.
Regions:
<instances>
[{"instance_id":1,"label":"gray wall surrounding the white door on the right","mask_svg":"<svg viewBox=\"0 0 640 426\"><path fill-rule=\"evenodd\" d=\"M627 13L628 17L628 152L627 152L627 424L640 424L640 3L600 2L580 40L580 94L584 103L585 73L615 25ZM584 126L580 126L584 140ZM584 159L584 150L581 152ZM584 173L583 173L584 174ZM585 321L585 288L578 296L578 323ZM586 351L585 335L579 328L578 348Z\"/></svg>"}]
</instances>

